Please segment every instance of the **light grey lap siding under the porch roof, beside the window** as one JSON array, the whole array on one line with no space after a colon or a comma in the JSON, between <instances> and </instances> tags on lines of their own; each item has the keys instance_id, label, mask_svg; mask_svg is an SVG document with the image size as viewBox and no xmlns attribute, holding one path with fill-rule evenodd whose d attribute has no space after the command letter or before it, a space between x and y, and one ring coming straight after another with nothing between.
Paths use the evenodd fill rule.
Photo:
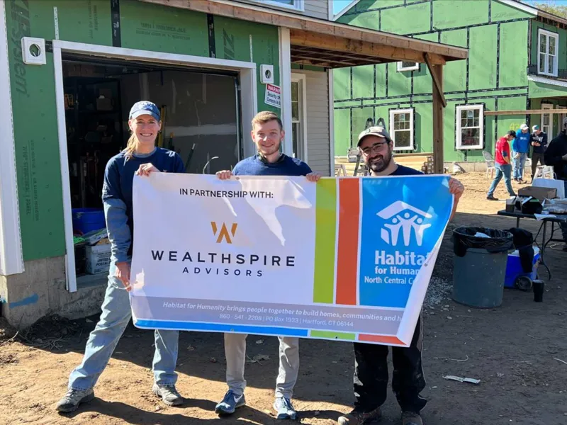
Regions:
<instances>
[{"instance_id":1,"label":"light grey lap siding under the porch roof, beside the window","mask_svg":"<svg viewBox=\"0 0 567 425\"><path fill-rule=\"evenodd\" d=\"M327 72L291 69L305 74L307 97L307 162L313 171L330 176L329 80Z\"/></svg>"}]
</instances>

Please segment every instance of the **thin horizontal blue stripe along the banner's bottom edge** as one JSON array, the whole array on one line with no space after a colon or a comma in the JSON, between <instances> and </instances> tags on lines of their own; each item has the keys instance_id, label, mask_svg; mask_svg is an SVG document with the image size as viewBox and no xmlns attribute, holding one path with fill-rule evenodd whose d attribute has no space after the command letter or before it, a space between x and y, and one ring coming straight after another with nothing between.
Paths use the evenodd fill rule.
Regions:
<instances>
[{"instance_id":1,"label":"thin horizontal blue stripe along the banner's bottom edge","mask_svg":"<svg viewBox=\"0 0 567 425\"><path fill-rule=\"evenodd\" d=\"M167 320L136 320L135 327L149 329L175 329L179 331L216 331L216 332L240 332L245 334L259 335L286 335L286 336L308 336L308 329L293 329L282 327L263 326L239 326L234 324L216 324L201 322L168 322Z\"/></svg>"}]
</instances>

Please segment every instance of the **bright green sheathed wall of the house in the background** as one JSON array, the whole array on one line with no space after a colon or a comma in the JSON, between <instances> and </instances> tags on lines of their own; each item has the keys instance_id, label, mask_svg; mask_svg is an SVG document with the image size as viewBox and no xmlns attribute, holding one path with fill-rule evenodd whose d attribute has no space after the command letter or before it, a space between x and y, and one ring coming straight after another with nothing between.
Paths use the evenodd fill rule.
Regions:
<instances>
[{"instance_id":1,"label":"bright green sheathed wall of the house in the background","mask_svg":"<svg viewBox=\"0 0 567 425\"><path fill-rule=\"evenodd\" d=\"M532 18L498 0L363 0L339 21L468 47L468 60L444 67L444 160L450 162L483 161L481 149L456 149L456 106L483 103L485 111L527 108L532 86L527 78L528 42L536 27ZM382 117L389 126L388 110L405 107L415 108L415 152L432 152L432 81L425 64L412 72L397 72L395 63L352 72L337 69L334 79L336 155L356 146L366 118ZM515 125L516 130L522 122L525 119L517 115L485 116L484 149L493 151L498 135Z\"/></svg>"}]
</instances>

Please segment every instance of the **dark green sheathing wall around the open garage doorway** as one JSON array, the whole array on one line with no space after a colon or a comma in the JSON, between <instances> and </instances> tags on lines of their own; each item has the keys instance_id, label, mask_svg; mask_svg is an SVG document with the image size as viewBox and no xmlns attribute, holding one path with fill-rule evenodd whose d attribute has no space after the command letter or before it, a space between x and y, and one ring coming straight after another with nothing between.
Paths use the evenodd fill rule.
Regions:
<instances>
[{"instance_id":1,"label":"dark green sheathing wall around the open garage doorway","mask_svg":"<svg viewBox=\"0 0 567 425\"><path fill-rule=\"evenodd\" d=\"M47 64L26 65L24 36L55 38L57 7L60 40L113 45L109 0L9 0L6 21L16 170L23 258L25 261L65 254L62 176L60 173L53 55ZM214 16L215 56L274 64L279 81L279 38L275 26ZM250 40L252 39L252 56ZM120 1L121 47L208 57L208 21L204 13L134 0ZM258 75L259 110L279 111L264 103ZM46 105L50 107L45 107Z\"/></svg>"}]
</instances>

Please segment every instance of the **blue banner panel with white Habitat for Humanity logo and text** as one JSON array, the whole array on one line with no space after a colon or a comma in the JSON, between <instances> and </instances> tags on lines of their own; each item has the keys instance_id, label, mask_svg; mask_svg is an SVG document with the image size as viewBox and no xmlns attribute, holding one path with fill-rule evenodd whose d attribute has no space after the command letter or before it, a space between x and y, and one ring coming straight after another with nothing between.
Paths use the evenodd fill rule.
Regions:
<instances>
[{"instance_id":1,"label":"blue banner panel with white Habitat for Humanity logo and text","mask_svg":"<svg viewBox=\"0 0 567 425\"><path fill-rule=\"evenodd\" d=\"M359 304L405 307L451 215L447 176L362 180Z\"/></svg>"}]
</instances>

